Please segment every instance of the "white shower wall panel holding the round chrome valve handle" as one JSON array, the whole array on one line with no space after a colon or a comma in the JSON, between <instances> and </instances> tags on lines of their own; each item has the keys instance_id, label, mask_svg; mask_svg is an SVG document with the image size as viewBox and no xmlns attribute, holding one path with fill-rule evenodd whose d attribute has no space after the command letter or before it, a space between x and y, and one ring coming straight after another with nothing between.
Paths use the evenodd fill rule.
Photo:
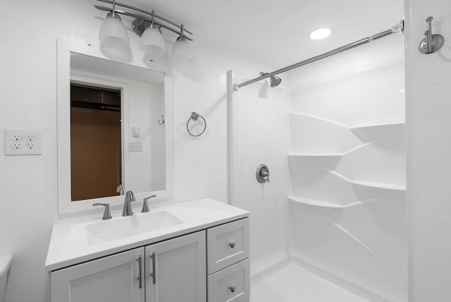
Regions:
<instances>
[{"instance_id":1,"label":"white shower wall panel holding the round chrome valve handle","mask_svg":"<svg viewBox=\"0 0 451 302\"><path fill-rule=\"evenodd\" d=\"M231 77L232 73L229 73ZM233 83L243 78L234 72ZM229 99L231 174L230 201L251 212L251 276L285 260L286 164L285 123L286 90L276 88L262 95L264 87L255 83L233 92ZM256 170L266 164L269 183L259 183Z\"/></svg>"}]
</instances>

